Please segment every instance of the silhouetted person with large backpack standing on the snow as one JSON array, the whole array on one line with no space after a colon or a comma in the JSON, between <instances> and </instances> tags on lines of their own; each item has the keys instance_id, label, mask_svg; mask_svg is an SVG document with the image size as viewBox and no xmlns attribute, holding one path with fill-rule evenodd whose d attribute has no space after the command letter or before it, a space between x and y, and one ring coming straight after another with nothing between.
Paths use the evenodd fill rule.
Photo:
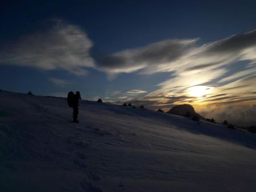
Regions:
<instances>
[{"instance_id":1,"label":"silhouetted person with large backpack standing on the snow","mask_svg":"<svg viewBox=\"0 0 256 192\"><path fill-rule=\"evenodd\" d=\"M76 94L72 91L68 93L68 106L73 107L73 123L78 123L77 115L79 114L79 99L81 99L79 91L76 91Z\"/></svg>"}]
</instances>

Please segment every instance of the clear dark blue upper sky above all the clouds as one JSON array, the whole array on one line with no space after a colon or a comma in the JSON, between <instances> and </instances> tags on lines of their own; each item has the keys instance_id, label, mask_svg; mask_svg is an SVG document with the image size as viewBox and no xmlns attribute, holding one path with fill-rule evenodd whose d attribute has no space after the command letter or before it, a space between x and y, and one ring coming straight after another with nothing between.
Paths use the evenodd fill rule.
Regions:
<instances>
[{"instance_id":1,"label":"clear dark blue upper sky above all the clouds","mask_svg":"<svg viewBox=\"0 0 256 192\"><path fill-rule=\"evenodd\" d=\"M1 43L61 18L88 32L95 54L170 38L214 41L254 30L255 1L1 1Z\"/></svg>"}]
</instances>

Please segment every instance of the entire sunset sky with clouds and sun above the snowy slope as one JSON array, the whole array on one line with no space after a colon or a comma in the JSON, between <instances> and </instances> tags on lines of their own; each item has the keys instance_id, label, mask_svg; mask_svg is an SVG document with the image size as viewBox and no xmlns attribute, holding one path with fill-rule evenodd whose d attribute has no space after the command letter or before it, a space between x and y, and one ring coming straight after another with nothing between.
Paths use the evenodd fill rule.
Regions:
<instances>
[{"instance_id":1,"label":"entire sunset sky with clouds and sun above the snowy slope","mask_svg":"<svg viewBox=\"0 0 256 192\"><path fill-rule=\"evenodd\" d=\"M256 124L255 1L0 1L0 89Z\"/></svg>"}]
</instances>

